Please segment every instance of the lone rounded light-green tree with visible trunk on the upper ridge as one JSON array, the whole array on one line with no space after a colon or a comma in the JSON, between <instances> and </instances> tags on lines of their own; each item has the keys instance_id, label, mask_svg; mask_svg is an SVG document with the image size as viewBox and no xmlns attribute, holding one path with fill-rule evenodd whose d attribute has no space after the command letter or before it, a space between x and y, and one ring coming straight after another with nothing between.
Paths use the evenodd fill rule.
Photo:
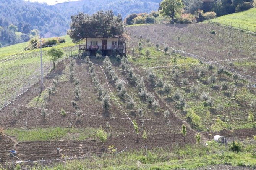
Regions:
<instances>
[{"instance_id":1,"label":"lone rounded light-green tree with visible trunk on the upper ridge","mask_svg":"<svg viewBox=\"0 0 256 170\"><path fill-rule=\"evenodd\" d=\"M163 16L170 17L174 23L174 16L181 11L184 4L181 0L163 0L159 4L159 13Z\"/></svg>"}]
</instances>

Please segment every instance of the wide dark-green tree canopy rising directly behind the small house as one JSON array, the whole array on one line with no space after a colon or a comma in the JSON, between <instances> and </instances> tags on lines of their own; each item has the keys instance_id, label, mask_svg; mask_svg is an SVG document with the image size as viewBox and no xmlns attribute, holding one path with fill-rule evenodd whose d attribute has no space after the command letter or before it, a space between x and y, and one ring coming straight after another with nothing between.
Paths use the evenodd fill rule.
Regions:
<instances>
[{"instance_id":1,"label":"wide dark-green tree canopy rising directly behind the small house","mask_svg":"<svg viewBox=\"0 0 256 170\"><path fill-rule=\"evenodd\" d=\"M81 37L111 37L124 32L121 15L115 16L112 10L98 11L92 15L79 13L71 16L71 19L68 35L73 41Z\"/></svg>"}]
</instances>

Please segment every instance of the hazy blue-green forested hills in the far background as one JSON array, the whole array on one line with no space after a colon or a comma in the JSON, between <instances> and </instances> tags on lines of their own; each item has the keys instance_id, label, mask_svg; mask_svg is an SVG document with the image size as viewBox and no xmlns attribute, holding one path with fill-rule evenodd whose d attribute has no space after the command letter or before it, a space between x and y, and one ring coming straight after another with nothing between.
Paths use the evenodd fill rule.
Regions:
<instances>
[{"instance_id":1,"label":"hazy blue-green forested hills in the far background","mask_svg":"<svg viewBox=\"0 0 256 170\"><path fill-rule=\"evenodd\" d=\"M71 16L79 12L93 14L99 10L113 10L123 18L131 13L157 10L160 0L81 0L56 5L27 2L24 0L1 0L0 47L28 41L36 30L42 37L66 35L70 29ZM16 26L9 29L9 26ZM38 31L37 31L38 30ZM50 34L50 36L49 36Z\"/></svg>"}]
</instances>

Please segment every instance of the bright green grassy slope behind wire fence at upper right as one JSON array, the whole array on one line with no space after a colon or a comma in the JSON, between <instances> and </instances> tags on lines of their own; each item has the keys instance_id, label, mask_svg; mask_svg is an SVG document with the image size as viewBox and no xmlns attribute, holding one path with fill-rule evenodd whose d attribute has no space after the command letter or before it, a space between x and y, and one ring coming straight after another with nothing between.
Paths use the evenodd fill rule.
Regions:
<instances>
[{"instance_id":1,"label":"bright green grassy slope behind wire fence at upper right","mask_svg":"<svg viewBox=\"0 0 256 170\"><path fill-rule=\"evenodd\" d=\"M218 21L217 21L218 20ZM233 27L239 27L241 29L246 29L248 27L248 30L255 32L256 29L256 8L252 8L247 11L239 12L239 13L233 13L228 14L224 16L220 16L216 19L212 19L210 21L218 22L220 24L224 24L229 26L232 23Z\"/></svg>"}]
</instances>

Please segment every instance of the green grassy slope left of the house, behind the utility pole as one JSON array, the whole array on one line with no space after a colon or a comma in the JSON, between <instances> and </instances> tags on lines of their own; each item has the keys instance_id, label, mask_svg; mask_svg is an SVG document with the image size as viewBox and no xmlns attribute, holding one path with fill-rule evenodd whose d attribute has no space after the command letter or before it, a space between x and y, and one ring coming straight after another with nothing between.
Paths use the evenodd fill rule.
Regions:
<instances>
[{"instance_id":1,"label":"green grassy slope left of the house, behind the utility pole","mask_svg":"<svg viewBox=\"0 0 256 170\"><path fill-rule=\"evenodd\" d=\"M66 42L61 43L57 48L61 48L65 51L65 56L68 55L68 49L74 46L72 40L68 35L63 36ZM28 83L32 85L39 80L40 76L40 49L23 51L25 47L28 47L29 42L19 43L8 47L0 48L0 106L7 103L10 99L22 92L23 87ZM51 47L42 48L43 51L43 63L44 63L44 75L49 72L51 68L51 61L47 55L47 51ZM22 53L21 53L22 52ZM21 54L19 54L21 53ZM78 53L78 50L73 51ZM17 55L18 54L18 55ZM17 55L17 56L15 56ZM8 63L6 59L20 58ZM5 60L1 60L5 59ZM32 79L31 79L32 78Z\"/></svg>"}]
</instances>

